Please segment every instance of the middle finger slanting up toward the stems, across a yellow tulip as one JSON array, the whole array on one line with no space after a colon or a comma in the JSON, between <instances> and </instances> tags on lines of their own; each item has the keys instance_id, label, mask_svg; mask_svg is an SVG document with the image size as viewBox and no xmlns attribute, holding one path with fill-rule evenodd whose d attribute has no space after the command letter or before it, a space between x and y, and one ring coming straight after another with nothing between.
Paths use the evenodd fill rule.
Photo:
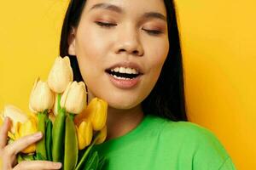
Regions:
<instances>
[{"instance_id":1,"label":"middle finger slanting up toward the stems, across a yellow tulip","mask_svg":"<svg viewBox=\"0 0 256 170\"><path fill-rule=\"evenodd\" d=\"M9 155L16 155L21 150L26 149L26 147L29 146L30 144L36 143L42 137L43 137L43 133L41 132L24 136L16 140L14 143L8 144L6 146L6 150L8 151Z\"/></svg>"}]
</instances>

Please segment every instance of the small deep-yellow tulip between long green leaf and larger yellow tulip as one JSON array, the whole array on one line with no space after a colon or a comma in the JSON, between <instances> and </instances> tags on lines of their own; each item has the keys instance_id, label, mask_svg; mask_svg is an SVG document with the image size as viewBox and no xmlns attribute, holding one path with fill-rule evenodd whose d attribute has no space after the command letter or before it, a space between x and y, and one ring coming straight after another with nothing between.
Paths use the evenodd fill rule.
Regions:
<instances>
[{"instance_id":1,"label":"small deep-yellow tulip between long green leaf and larger yellow tulip","mask_svg":"<svg viewBox=\"0 0 256 170\"><path fill-rule=\"evenodd\" d=\"M83 150L86 146L88 146L92 139L92 126L89 120L84 119L83 122L76 125L78 141L79 141L79 150Z\"/></svg>"}]
</instances>

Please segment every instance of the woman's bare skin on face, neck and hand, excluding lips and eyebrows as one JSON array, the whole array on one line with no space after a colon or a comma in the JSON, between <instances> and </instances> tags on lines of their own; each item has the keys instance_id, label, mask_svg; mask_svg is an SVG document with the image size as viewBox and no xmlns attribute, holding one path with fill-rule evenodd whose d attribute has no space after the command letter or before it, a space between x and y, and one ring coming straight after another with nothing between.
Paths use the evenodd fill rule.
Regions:
<instances>
[{"instance_id":1,"label":"woman's bare skin on face, neck and hand, excluding lips and eyebrows","mask_svg":"<svg viewBox=\"0 0 256 170\"><path fill-rule=\"evenodd\" d=\"M121 8L118 13L93 8L96 3L110 3ZM143 14L157 12L166 17L162 0L88 0L79 26L69 35L69 54L76 55L81 74L89 89L89 100L98 97L108 102L108 139L115 139L143 120L141 103L160 75L169 50L166 20L145 18ZM114 26L100 26L98 22ZM160 31L154 34L152 31ZM134 62L143 71L137 86L122 89L113 86L105 70L119 62ZM10 120L0 129L0 156L3 170L60 169L60 163L22 161L16 164L17 153L42 138L42 133L23 137L7 144Z\"/></svg>"}]
</instances>

